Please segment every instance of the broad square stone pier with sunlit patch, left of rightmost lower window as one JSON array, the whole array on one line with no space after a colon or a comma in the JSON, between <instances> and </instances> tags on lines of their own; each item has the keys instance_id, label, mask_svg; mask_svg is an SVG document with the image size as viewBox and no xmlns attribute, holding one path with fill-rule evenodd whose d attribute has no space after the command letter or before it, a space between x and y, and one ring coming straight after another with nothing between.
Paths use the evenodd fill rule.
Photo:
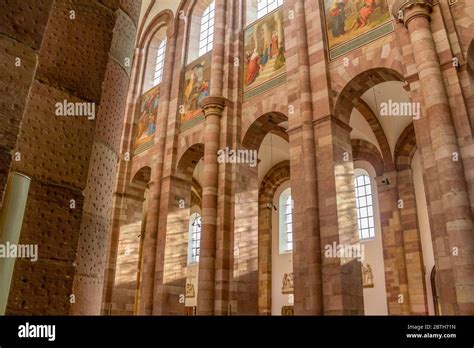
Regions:
<instances>
[{"instance_id":1,"label":"broad square stone pier with sunlit patch, left of rightmost lower window","mask_svg":"<svg viewBox=\"0 0 474 348\"><path fill-rule=\"evenodd\" d=\"M351 160L351 130L343 121L332 116L315 123L319 228L321 248L324 252L324 315L364 313L362 267L359 257L354 253L339 257L334 253L333 247L336 245L358 248L360 245L354 194L354 165ZM328 248L332 250L331 253L326 253Z\"/></svg>"}]
</instances>

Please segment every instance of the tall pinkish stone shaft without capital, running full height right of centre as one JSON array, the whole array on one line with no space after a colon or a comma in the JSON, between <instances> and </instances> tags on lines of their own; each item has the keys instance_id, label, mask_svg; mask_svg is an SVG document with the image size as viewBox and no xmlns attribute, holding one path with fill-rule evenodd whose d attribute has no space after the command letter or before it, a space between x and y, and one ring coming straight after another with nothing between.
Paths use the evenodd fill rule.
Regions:
<instances>
[{"instance_id":1,"label":"tall pinkish stone shaft without capital, running full height right of centre","mask_svg":"<svg viewBox=\"0 0 474 348\"><path fill-rule=\"evenodd\" d=\"M322 261L308 28L303 0L287 1L284 6L287 11L295 12L295 19L285 22L287 69L292 69L287 70L288 100L293 106L299 104L297 115L288 116L290 152L298 153L298 156L291 156L291 195L295 203L294 310L296 315L321 315ZM295 39L289 40L290 37Z\"/></svg>"}]
</instances>

